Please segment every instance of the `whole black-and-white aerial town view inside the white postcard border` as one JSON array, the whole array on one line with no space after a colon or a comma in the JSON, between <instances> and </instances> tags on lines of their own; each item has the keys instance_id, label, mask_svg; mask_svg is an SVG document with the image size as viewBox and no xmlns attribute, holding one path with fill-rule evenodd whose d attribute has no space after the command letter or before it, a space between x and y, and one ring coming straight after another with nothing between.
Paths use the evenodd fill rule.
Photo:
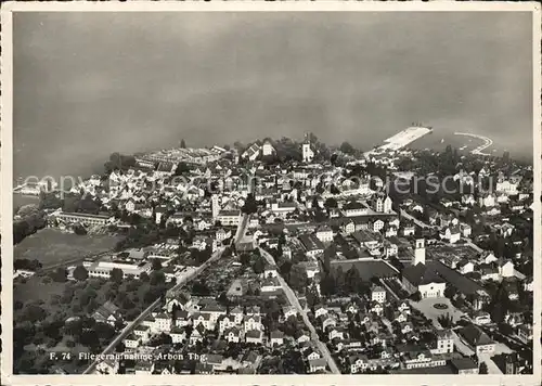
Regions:
<instances>
[{"instance_id":1,"label":"whole black-and-white aerial town view inside the white postcard border","mask_svg":"<svg viewBox=\"0 0 542 386\"><path fill-rule=\"evenodd\" d=\"M531 17L14 15L13 373L533 374Z\"/></svg>"}]
</instances>

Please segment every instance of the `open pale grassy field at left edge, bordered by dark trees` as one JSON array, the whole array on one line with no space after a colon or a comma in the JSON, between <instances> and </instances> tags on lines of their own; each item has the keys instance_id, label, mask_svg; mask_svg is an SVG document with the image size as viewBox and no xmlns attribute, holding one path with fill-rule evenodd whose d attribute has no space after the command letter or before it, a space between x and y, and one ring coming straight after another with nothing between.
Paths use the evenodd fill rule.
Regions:
<instances>
[{"instance_id":1,"label":"open pale grassy field at left edge, bordered by dark trees","mask_svg":"<svg viewBox=\"0 0 542 386\"><path fill-rule=\"evenodd\" d=\"M15 259L38 259L43 268L90 254L112 249L121 237L77 235L56 229L42 229L14 248Z\"/></svg>"}]
</instances>

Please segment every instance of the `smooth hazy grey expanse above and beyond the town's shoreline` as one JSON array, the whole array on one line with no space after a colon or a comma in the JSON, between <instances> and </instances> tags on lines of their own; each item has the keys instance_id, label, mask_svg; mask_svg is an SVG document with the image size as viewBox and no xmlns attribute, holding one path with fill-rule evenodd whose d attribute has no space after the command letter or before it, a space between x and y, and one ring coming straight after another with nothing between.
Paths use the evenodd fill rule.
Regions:
<instances>
[{"instance_id":1,"label":"smooth hazy grey expanse above and beyond the town's shoreline","mask_svg":"<svg viewBox=\"0 0 542 386\"><path fill-rule=\"evenodd\" d=\"M532 152L530 13L18 13L14 175L115 151L314 132L362 149L412 121Z\"/></svg>"}]
</instances>

